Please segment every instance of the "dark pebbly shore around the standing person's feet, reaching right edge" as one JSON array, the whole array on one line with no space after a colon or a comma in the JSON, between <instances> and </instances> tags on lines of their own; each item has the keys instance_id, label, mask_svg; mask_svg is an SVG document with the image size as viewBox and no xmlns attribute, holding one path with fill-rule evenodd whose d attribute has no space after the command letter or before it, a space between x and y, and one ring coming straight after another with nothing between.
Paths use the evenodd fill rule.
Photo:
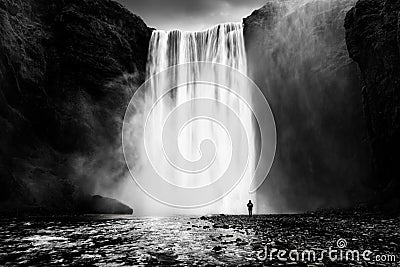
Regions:
<instances>
[{"instance_id":1,"label":"dark pebbly shore around the standing person's feet, reaching right edge","mask_svg":"<svg viewBox=\"0 0 400 267\"><path fill-rule=\"evenodd\" d=\"M299 266L398 266L400 263L400 229L399 218L365 212L346 213L339 211L319 212L299 215L254 216L248 219L243 216L215 216L207 218L213 227L233 229L234 232L254 231L254 236L247 240L236 240L236 245L246 243L257 251L278 249L283 251L304 250L316 252L316 261L302 263L288 261L286 264ZM371 251L371 260L340 260L338 246L343 253L346 250ZM229 242L228 242L229 243ZM229 250L226 241L221 239L222 251ZM328 257L319 260L322 250L338 249L337 260ZM264 256L264 254L258 254ZM268 254L271 255L271 254ZM263 261L265 265L285 265L277 255ZM332 254L335 255L335 254ZM387 260L393 255L394 262ZM377 258L378 257L378 258ZM379 260L386 258L386 260ZM257 263L261 263L257 261Z\"/></svg>"}]
</instances>

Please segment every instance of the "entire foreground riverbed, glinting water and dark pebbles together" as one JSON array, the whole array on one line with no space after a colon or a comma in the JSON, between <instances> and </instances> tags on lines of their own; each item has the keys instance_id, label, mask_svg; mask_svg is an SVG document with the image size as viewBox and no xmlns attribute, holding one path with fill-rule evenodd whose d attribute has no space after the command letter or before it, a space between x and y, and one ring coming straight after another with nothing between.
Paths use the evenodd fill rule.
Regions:
<instances>
[{"instance_id":1,"label":"entire foreground riverbed, glinting water and dark pebbles together","mask_svg":"<svg viewBox=\"0 0 400 267\"><path fill-rule=\"evenodd\" d=\"M87 215L3 218L0 226L0 265L400 264L399 218L368 213L260 215L252 219L224 215ZM338 246L343 251L371 251L370 260L324 257L302 263L278 260L276 255L265 259L272 249L312 250L318 256L323 250ZM376 256L386 256L386 260L377 262Z\"/></svg>"}]
</instances>

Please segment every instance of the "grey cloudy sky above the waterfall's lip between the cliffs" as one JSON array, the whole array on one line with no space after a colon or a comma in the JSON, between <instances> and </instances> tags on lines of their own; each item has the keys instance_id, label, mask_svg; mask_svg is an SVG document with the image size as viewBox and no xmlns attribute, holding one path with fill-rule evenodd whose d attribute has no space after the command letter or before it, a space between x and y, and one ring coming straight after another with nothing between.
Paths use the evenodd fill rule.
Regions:
<instances>
[{"instance_id":1,"label":"grey cloudy sky above the waterfall's lip between the cliffs","mask_svg":"<svg viewBox=\"0 0 400 267\"><path fill-rule=\"evenodd\" d=\"M203 30L240 22L266 0L117 0L159 30Z\"/></svg>"}]
</instances>

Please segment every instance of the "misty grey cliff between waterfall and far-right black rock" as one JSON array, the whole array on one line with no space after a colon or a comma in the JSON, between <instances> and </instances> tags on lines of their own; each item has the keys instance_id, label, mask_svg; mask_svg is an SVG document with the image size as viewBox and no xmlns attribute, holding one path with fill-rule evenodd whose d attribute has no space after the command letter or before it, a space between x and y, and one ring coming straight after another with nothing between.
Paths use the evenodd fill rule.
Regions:
<instances>
[{"instance_id":1,"label":"misty grey cliff between waterfall and far-right black rock","mask_svg":"<svg viewBox=\"0 0 400 267\"><path fill-rule=\"evenodd\" d=\"M249 75L278 134L258 203L277 212L348 206L371 186L361 83L343 27L355 1L293 2L268 1L244 19Z\"/></svg>"}]
</instances>

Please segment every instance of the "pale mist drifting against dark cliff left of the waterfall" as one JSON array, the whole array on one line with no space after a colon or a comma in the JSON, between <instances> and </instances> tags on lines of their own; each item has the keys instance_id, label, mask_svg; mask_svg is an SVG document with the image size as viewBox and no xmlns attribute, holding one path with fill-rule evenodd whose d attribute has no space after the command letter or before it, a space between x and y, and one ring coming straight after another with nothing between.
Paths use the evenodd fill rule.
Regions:
<instances>
[{"instance_id":1,"label":"pale mist drifting against dark cliff left of the waterfall","mask_svg":"<svg viewBox=\"0 0 400 267\"><path fill-rule=\"evenodd\" d=\"M91 149L72 154L68 164L70 176L83 193L121 198L120 184L129 179L122 153L122 122L129 99L140 84L138 72L126 73L104 86L105 94L109 92L112 97L104 97L96 104L81 99L79 106L86 109L85 121L90 124L91 134L87 134L86 142Z\"/></svg>"}]
</instances>

